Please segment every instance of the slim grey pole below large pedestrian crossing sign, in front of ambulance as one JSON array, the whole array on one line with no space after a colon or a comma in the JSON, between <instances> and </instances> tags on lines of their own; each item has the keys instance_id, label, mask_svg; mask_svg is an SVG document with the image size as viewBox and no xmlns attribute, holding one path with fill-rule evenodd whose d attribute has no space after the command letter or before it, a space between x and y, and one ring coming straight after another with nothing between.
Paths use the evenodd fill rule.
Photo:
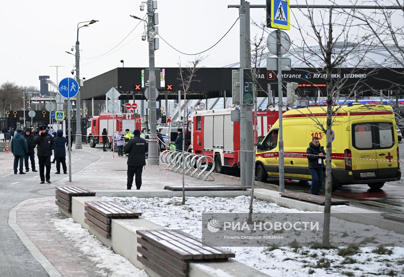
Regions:
<instances>
[{"instance_id":1,"label":"slim grey pole below large pedestrian crossing sign, in front of ambulance","mask_svg":"<svg viewBox=\"0 0 404 277\"><path fill-rule=\"evenodd\" d=\"M285 171L283 154L283 127L282 127L282 55L280 52L280 29L276 31L276 40L278 44L278 101L279 101L279 191L285 191Z\"/></svg>"}]
</instances>

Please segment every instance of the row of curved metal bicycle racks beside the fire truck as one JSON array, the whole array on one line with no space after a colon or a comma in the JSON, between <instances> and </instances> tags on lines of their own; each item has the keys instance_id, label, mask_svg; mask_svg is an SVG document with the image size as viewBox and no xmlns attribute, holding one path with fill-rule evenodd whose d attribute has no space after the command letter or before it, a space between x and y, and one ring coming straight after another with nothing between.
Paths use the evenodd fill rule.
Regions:
<instances>
[{"instance_id":1,"label":"row of curved metal bicycle racks beside the fire truck","mask_svg":"<svg viewBox=\"0 0 404 277\"><path fill-rule=\"evenodd\" d=\"M183 169L185 175L206 181L215 180L210 175L215 169L215 160L212 157L189 152L183 154L178 151L164 150L160 153L160 160L167 164L166 170L181 173ZM209 163L212 163L210 170L208 170Z\"/></svg>"}]
</instances>

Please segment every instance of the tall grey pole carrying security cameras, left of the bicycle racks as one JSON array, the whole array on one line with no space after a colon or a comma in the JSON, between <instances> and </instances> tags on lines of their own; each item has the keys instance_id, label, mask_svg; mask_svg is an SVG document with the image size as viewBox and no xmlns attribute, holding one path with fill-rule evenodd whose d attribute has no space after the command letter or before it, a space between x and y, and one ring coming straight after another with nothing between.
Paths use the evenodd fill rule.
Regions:
<instances>
[{"instance_id":1,"label":"tall grey pole carrying security cameras, left of the bicycle racks","mask_svg":"<svg viewBox=\"0 0 404 277\"><path fill-rule=\"evenodd\" d=\"M149 124L150 124L150 136L149 136L149 157L147 158L147 164L158 165L158 143L157 143L157 118L156 118L156 99L158 97L158 90L156 89L156 75L154 73L154 50L158 49L158 38L155 36L158 33L158 27L154 27L158 24L158 13L154 13L157 9L156 0L147 0L147 2L141 2L139 5L140 10L144 10L143 3L147 4L147 41L149 42L149 88L148 93L145 91L145 97L149 99ZM134 15L130 15L135 19L145 21ZM146 21L145 21L146 22ZM143 40L143 39L142 39ZM148 94L148 95L146 95Z\"/></svg>"}]
</instances>

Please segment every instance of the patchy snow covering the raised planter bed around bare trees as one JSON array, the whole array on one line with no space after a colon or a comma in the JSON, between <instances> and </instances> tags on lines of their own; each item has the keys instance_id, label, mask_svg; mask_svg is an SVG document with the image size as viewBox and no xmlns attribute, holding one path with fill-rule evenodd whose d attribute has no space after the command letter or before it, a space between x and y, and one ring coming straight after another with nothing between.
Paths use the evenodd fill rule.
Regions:
<instances>
[{"instance_id":1,"label":"patchy snow covering the raised planter bed around bare trees","mask_svg":"<svg viewBox=\"0 0 404 277\"><path fill-rule=\"evenodd\" d=\"M186 204L183 206L181 205L182 197L102 198L118 201L134 210L141 210L142 216L151 222L170 229L181 229L196 237L201 237L202 213L248 212L250 200L246 196L186 197ZM297 213L303 211L254 199L254 212ZM236 253L236 260L276 277L404 276L404 248L402 247L329 250L309 247L227 247L226 249Z\"/></svg>"}]
</instances>

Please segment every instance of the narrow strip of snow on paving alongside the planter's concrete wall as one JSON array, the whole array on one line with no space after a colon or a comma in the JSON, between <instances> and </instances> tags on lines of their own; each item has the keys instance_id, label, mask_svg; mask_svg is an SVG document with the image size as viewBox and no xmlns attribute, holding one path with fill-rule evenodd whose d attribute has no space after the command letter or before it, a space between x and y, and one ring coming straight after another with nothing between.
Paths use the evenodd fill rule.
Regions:
<instances>
[{"instance_id":1,"label":"narrow strip of snow on paving alongside the planter's concrete wall","mask_svg":"<svg viewBox=\"0 0 404 277\"><path fill-rule=\"evenodd\" d=\"M119 254L115 254L73 218L55 219L53 224L74 247L78 248L86 258L95 263L99 274L108 277L148 277L144 270L135 267Z\"/></svg>"}]
</instances>

